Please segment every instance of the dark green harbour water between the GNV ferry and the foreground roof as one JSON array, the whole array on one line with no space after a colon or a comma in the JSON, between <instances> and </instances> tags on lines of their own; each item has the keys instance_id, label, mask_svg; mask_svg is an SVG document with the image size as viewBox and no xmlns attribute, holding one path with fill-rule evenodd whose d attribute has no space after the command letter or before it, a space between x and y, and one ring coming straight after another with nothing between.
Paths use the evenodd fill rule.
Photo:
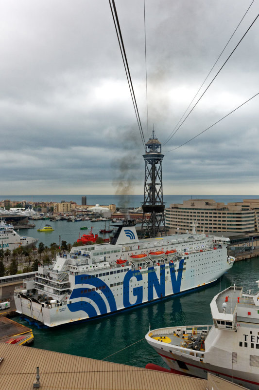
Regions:
<instances>
[{"instance_id":1,"label":"dark green harbour water between the GNV ferry and the foreground roof","mask_svg":"<svg viewBox=\"0 0 259 390\"><path fill-rule=\"evenodd\" d=\"M248 289L256 291L255 281L258 279L259 257L240 261L235 263L230 272L225 273L220 281L200 291L174 296L81 324L69 324L45 330L38 330L32 326L35 341L31 346L104 359L143 339L149 329L149 324L151 329L175 325L212 324L209 304L214 295L229 287L231 283L243 286L244 291ZM19 318L17 321L24 325L27 324ZM141 340L106 360L138 367L145 367L147 363L166 367L145 340Z\"/></svg>"}]
</instances>

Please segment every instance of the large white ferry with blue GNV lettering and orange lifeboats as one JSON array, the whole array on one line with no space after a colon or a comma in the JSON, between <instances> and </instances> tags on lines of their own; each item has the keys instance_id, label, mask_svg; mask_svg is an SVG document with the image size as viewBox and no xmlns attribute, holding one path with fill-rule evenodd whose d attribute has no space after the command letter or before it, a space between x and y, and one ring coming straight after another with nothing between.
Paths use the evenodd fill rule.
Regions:
<instances>
[{"instance_id":1,"label":"large white ferry with blue GNV lettering and orange lifeboats","mask_svg":"<svg viewBox=\"0 0 259 390\"><path fill-rule=\"evenodd\" d=\"M228 240L195 232L139 240L123 221L111 244L73 247L39 266L15 290L17 312L54 327L205 286L232 267Z\"/></svg>"}]
</instances>

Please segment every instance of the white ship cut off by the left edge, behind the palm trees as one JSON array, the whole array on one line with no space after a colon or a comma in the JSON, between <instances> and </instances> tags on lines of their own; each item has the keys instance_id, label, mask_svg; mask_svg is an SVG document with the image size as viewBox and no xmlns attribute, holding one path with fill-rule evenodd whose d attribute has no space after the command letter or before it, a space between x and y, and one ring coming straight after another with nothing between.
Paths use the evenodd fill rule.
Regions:
<instances>
[{"instance_id":1,"label":"white ship cut off by the left edge, behind the palm trees","mask_svg":"<svg viewBox=\"0 0 259 390\"><path fill-rule=\"evenodd\" d=\"M4 220L0 220L0 249L13 251L21 245L26 248L37 241L37 238L19 235L13 225L7 225Z\"/></svg>"}]
</instances>

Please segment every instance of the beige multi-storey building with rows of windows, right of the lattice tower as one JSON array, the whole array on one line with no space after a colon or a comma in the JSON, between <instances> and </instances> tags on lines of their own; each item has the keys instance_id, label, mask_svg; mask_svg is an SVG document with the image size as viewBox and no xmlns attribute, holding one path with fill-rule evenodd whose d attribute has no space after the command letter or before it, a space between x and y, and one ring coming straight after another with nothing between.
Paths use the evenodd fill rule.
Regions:
<instances>
[{"instance_id":1,"label":"beige multi-storey building with rows of windows, right of the lattice tower","mask_svg":"<svg viewBox=\"0 0 259 390\"><path fill-rule=\"evenodd\" d=\"M165 220L170 234L191 232L193 221L197 233L259 232L259 199L227 204L213 199L184 200L166 208Z\"/></svg>"}]
</instances>

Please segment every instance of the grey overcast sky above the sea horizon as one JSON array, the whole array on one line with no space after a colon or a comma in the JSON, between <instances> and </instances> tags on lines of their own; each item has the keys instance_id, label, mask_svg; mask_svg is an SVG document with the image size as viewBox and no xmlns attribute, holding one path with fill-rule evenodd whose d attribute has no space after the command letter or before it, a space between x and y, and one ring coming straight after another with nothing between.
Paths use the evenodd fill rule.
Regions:
<instances>
[{"instance_id":1,"label":"grey overcast sky above the sea horizon","mask_svg":"<svg viewBox=\"0 0 259 390\"><path fill-rule=\"evenodd\" d=\"M145 0L149 136L154 124L169 137L251 2ZM116 6L147 140L143 0ZM255 0L209 81L258 13ZM144 149L108 0L0 0L0 26L0 193L142 194ZM162 152L259 92L258 37L259 18ZM165 153L163 183L168 195L259 195L259 96Z\"/></svg>"}]
</instances>

